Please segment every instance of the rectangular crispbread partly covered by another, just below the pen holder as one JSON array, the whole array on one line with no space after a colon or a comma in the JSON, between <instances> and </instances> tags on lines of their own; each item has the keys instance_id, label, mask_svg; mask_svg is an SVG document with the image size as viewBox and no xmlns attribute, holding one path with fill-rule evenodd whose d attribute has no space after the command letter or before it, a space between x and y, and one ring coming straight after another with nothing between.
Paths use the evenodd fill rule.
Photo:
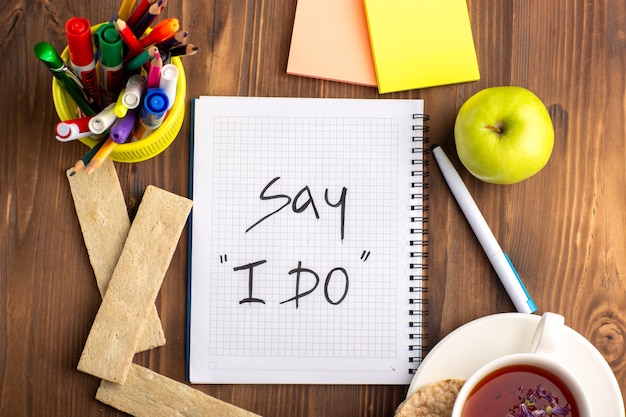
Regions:
<instances>
[{"instance_id":1,"label":"rectangular crispbread partly covered by another, just below the pen holder","mask_svg":"<svg viewBox=\"0 0 626 417\"><path fill-rule=\"evenodd\" d=\"M126 202L113 161L106 160L91 175L86 171L71 175L73 171L70 168L66 175L89 261L100 295L104 296L130 229ZM153 306L137 352L163 345L165 332L156 306Z\"/></svg>"}]
</instances>

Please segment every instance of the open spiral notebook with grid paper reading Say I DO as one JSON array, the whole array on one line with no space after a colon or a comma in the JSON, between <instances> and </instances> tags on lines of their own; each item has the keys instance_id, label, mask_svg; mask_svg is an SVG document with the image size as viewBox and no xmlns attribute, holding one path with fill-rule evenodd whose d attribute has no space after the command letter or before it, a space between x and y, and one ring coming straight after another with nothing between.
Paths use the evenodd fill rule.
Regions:
<instances>
[{"instance_id":1,"label":"open spiral notebook with grid paper reading Say I DO","mask_svg":"<svg viewBox=\"0 0 626 417\"><path fill-rule=\"evenodd\" d=\"M408 384L425 336L423 101L192 110L189 381Z\"/></svg>"}]
</instances>

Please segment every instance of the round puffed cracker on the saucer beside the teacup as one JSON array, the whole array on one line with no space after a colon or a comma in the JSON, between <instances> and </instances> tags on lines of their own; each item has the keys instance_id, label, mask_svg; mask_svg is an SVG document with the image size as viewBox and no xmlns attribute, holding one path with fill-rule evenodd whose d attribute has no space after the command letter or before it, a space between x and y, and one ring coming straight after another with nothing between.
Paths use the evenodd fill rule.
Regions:
<instances>
[{"instance_id":1,"label":"round puffed cracker on the saucer beside the teacup","mask_svg":"<svg viewBox=\"0 0 626 417\"><path fill-rule=\"evenodd\" d=\"M396 409L395 417L450 417L465 381L444 379L419 387Z\"/></svg>"}]
</instances>

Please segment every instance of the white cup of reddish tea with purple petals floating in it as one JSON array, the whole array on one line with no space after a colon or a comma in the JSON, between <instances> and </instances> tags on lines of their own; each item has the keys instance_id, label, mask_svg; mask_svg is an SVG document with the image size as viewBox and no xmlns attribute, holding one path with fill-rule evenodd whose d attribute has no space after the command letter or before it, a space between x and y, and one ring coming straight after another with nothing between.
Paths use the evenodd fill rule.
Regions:
<instances>
[{"instance_id":1,"label":"white cup of reddish tea with purple petals floating in it","mask_svg":"<svg viewBox=\"0 0 626 417\"><path fill-rule=\"evenodd\" d=\"M452 417L591 417L585 390L556 354L564 328L563 316L544 313L529 351L502 356L474 372L459 391Z\"/></svg>"}]
</instances>

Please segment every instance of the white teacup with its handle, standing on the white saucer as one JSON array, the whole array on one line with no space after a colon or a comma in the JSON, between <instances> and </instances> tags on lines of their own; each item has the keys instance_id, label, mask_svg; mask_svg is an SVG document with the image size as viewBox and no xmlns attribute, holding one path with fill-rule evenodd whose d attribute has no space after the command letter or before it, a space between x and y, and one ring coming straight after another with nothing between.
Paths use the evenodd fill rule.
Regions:
<instances>
[{"instance_id":1,"label":"white teacup with its handle, standing on the white saucer","mask_svg":"<svg viewBox=\"0 0 626 417\"><path fill-rule=\"evenodd\" d=\"M517 378L521 374L515 372L521 371L540 374L541 377L551 380L560 387L565 396L571 396L568 400L558 395L558 406L562 407L569 403L573 411L577 410L577 413L568 415L591 417L591 405L585 390L576 377L559 363L557 353L561 334L565 328L564 323L563 316L555 313L544 313L537 325L528 353L502 356L474 372L459 391L452 409L452 417L489 417L489 412L483 407L487 402L490 403L492 410L497 411L494 415L506 416L508 409L513 409L524 402L522 397L528 393L528 390L537 390L537 382L528 382L523 384L528 386L523 386L523 390L520 391L519 385L522 384L520 384L521 380ZM495 334L493 337L498 337L498 335ZM489 341L485 340L485 343L489 343ZM509 382L505 382L505 379L509 379ZM550 386L547 383L545 385ZM497 394L491 393L488 400L480 400L481 396L487 395L492 388L497 388L500 391ZM552 388L546 389L544 386L543 389L549 392ZM508 394L508 392L513 392L513 394ZM547 399L542 398L536 405L544 406L547 401ZM474 405L477 403L481 404L481 411L471 411L472 409L476 410Z\"/></svg>"}]
</instances>

